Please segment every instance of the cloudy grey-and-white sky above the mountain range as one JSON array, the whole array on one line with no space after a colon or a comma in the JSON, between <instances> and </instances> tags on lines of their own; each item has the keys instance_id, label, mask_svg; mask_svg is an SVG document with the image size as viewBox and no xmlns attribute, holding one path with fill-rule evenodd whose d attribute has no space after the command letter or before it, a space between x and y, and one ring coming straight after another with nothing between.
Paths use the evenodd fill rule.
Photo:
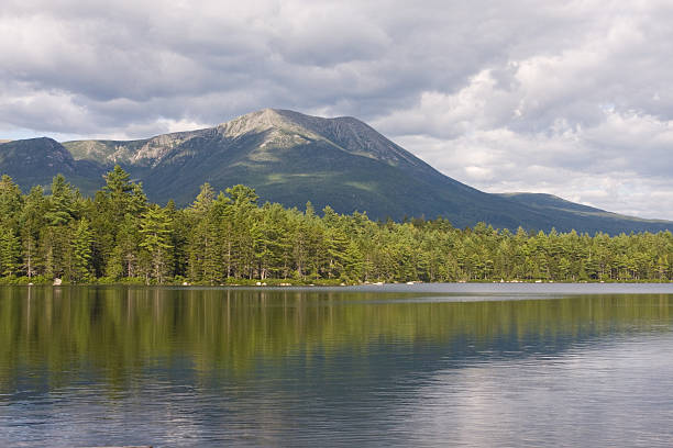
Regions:
<instances>
[{"instance_id":1,"label":"cloudy grey-and-white sky above the mountain range","mask_svg":"<svg viewBox=\"0 0 673 448\"><path fill-rule=\"evenodd\" d=\"M489 192L673 220L673 2L3 0L0 138L353 115Z\"/></svg>"}]
</instances>

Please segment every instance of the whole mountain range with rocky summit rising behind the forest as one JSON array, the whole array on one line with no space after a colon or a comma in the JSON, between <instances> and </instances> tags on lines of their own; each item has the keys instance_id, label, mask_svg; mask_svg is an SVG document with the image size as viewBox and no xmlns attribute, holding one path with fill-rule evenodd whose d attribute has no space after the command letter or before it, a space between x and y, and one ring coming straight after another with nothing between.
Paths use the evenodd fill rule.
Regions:
<instances>
[{"instance_id":1,"label":"whole mountain range with rocky summit rising behind the forest","mask_svg":"<svg viewBox=\"0 0 673 448\"><path fill-rule=\"evenodd\" d=\"M24 147L0 161L0 170L23 188L48 183L62 169L90 193L102 186L101 173L119 164L143 182L151 200L174 199L180 205L190 203L203 182L216 190L244 183L262 201L287 206L304 208L310 200L318 210L331 205L341 213L366 211L375 219L442 215L459 227L484 221L495 227L591 233L673 228L670 222L616 215L558 198L482 192L440 173L353 117L265 109L214 127L147 139L63 145L48 138L19 141L0 145L3 156L7 145ZM19 167L29 153L37 165L26 172Z\"/></svg>"}]
</instances>

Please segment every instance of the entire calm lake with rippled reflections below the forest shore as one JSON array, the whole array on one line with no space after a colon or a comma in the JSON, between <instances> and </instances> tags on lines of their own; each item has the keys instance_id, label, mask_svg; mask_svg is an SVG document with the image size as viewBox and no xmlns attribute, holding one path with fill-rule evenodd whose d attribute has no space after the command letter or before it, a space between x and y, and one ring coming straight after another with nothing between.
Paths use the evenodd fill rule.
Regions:
<instances>
[{"instance_id":1,"label":"entire calm lake with rippled reflections below the forest shore","mask_svg":"<svg viewBox=\"0 0 673 448\"><path fill-rule=\"evenodd\" d=\"M673 284L0 288L0 446L672 446Z\"/></svg>"}]
</instances>

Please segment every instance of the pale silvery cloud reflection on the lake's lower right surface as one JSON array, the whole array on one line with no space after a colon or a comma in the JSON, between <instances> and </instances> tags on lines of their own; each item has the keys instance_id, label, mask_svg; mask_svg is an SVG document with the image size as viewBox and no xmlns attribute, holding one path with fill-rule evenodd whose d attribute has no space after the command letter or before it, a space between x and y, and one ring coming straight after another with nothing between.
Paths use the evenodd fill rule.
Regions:
<instances>
[{"instance_id":1,"label":"pale silvery cloud reflection on the lake's lower right surface","mask_svg":"<svg viewBox=\"0 0 673 448\"><path fill-rule=\"evenodd\" d=\"M597 345L437 372L401 411L411 445L665 446L673 337ZM402 417L400 415L400 417Z\"/></svg>"}]
</instances>

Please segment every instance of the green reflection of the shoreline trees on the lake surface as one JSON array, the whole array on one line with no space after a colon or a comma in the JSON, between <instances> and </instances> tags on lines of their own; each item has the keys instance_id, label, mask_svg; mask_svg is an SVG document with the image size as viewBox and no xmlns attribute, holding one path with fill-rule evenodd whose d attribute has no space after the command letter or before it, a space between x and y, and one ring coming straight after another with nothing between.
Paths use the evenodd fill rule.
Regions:
<instances>
[{"instance_id":1,"label":"green reflection of the shoreline trees on the lake surface","mask_svg":"<svg viewBox=\"0 0 673 448\"><path fill-rule=\"evenodd\" d=\"M441 295L441 294L437 294ZM563 349L610 332L668 331L672 295L413 302L420 294L291 290L4 288L0 387L26 369L51 383L81 366L112 384L153 366L190 363L244 376L261 359L302 351L367 356L377 344L444 355ZM401 300L409 299L409 300ZM664 325L662 325L664 324ZM56 385L56 384L54 384Z\"/></svg>"}]
</instances>

